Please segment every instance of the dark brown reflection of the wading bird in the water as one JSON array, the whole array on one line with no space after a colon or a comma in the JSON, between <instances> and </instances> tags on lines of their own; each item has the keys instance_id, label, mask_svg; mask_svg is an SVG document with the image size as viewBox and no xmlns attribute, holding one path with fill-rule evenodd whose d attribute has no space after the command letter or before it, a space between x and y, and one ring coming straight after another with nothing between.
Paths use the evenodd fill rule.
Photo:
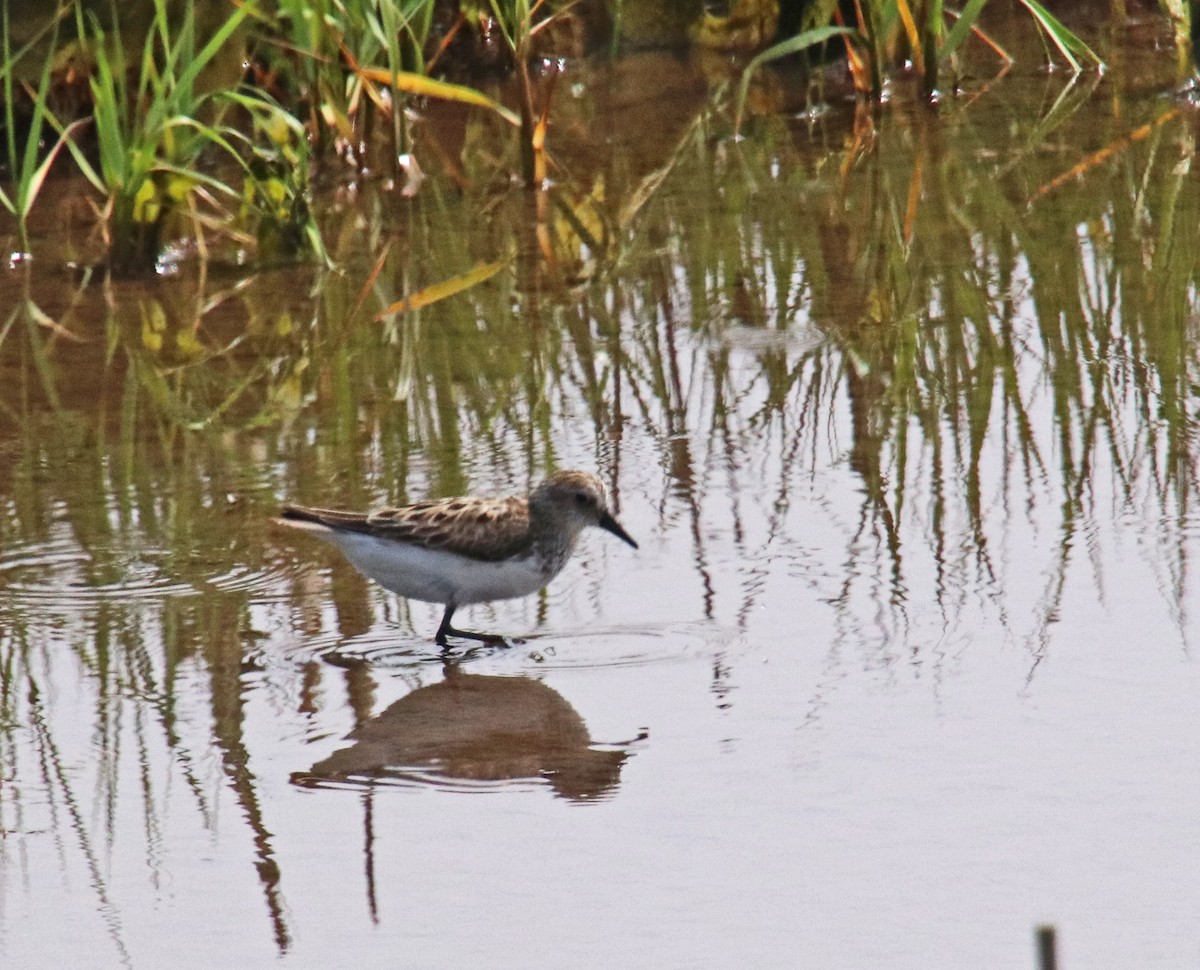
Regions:
<instances>
[{"instance_id":1,"label":"dark brown reflection of the wading bird in the water","mask_svg":"<svg viewBox=\"0 0 1200 970\"><path fill-rule=\"evenodd\" d=\"M539 681L463 673L456 664L446 664L445 679L401 697L347 740L354 743L293 782L472 791L540 782L559 797L592 802L616 790L632 743L593 744L578 712Z\"/></svg>"}]
</instances>

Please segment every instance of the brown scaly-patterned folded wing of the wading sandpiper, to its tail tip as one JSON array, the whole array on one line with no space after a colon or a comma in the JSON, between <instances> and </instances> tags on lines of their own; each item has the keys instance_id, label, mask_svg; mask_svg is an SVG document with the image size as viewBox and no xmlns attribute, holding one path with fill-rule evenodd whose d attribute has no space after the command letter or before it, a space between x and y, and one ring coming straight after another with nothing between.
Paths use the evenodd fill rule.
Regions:
<instances>
[{"instance_id":1,"label":"brown scaly-patterned folded wing of the wading sandpiper, to its tail tip","mask_svg":"<svg viewBox=\"0 0 1200 970\"><path fill-rule=\"evenodd\" d=\"M506 559L529 546L529 505L523 498L440 498L373 513L288 505L283 517L484 562Z\"/></svg>"}]
</instances>

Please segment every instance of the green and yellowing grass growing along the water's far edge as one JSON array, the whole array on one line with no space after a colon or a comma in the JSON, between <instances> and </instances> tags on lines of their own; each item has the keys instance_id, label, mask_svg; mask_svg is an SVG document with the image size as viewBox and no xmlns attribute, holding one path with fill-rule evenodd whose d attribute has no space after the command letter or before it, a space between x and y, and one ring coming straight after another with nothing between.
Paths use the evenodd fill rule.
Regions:
<instances>
[{"instance_id":1,"label":"green and yellowing grass growing along the water's far edge","mask_svg":"<svg viewBox=\"0 0 1200 970\"><path fill-rule=\"evenodd\" d=\"M1020 0L1048 61L1093 70L1094 52L1038 0ZM104 0L5 6L0 196L29 253L28 223L55 161L86 181L94 212L82 258L124 275L186 256L272 263L326 259L313 187L379 173L416 192L413 151L430 112L470 106L511 126L492 150L499 176L536 190L559 176L551 116L564 71L584 58L671 49L704 59L715 101L737 124L755 76L808 103L848 84L880 102L914 84L956 90L968 49L1012 55L985 30L983 0ZM1187 17L1187 8L1176 11ZM1010 12L1003 14L1010 17ZM1120 11L1114 18L1120 19ZM1178 62L1188 32L1177 32ZM836 64L830 72L822 65ZM782 96L774 76L778 103ZM739 80L736 98L722 95ZM816 85L816 88L814 88ZM727 92L726 92L727 94ZM760 84L760 100L773 97ZM562 97L558 98L562 101ZM444 161L444 160L443 160ZM316 181L314 181L316 179ZM89 191L90 190L90 191Z\"/></svg>"}]
</instances>

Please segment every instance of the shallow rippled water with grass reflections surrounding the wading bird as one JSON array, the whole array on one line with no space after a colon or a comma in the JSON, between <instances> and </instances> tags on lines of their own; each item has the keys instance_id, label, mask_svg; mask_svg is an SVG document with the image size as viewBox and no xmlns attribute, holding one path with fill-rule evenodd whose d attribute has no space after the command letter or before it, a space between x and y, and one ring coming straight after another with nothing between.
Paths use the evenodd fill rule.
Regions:
<instances>
[{"instance_id":1,"label":"shallow rippled water with grass reflections surrounding the wading bird","mask_svg":"<svg viewBox=\"0 0 1200 970\"><path fill-rule=\"evenodd\" d=\"M4 965L1193 965L1200 184L1135 26L740 142L644 55L540 221L460 119L330 192L340 274L7 274ZM271 525L552 467L641 549L449 664Z\"/></svg>"}]
</instances>

